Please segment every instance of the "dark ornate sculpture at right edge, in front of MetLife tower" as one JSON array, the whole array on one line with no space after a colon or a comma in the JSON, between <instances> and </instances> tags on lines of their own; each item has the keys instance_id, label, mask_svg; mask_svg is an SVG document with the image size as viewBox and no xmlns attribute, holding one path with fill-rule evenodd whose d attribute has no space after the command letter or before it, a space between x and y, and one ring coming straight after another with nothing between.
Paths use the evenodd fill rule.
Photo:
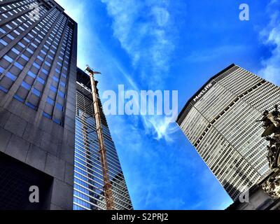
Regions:
<instances>
[{"instance_id":1,"label":"dark ornate sculpture at right edge, in front of MetLife tower","mask_svg":"<svg viewBox=\"0 0 280 224\"><path fill-rule=\"evenodd\" d=\"M262 137L269 141L269 146L267 146L269 167L270 169L277 168L280 163L280 112L278 105L271 113L265 111L262 120L258 120L258 122L262 122L262 126L265 128Z\"/></svg>"}]
</instances>

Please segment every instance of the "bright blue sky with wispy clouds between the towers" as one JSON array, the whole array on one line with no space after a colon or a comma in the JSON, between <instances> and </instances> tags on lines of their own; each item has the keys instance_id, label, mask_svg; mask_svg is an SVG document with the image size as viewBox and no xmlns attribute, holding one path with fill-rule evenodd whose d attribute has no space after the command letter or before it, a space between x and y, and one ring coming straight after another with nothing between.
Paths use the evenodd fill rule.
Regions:
<instances>
[{"instance_id":1,"label":"bright blue sky with wispy clouds between the towers","mask_svg":"<svg viewBox=\"0 0 280 224\"><path fill-rule=\"evenodd\" d=\"M78 22L78 66L99 91L179 90L179 111L229 64L280 83L279 0L57 0ZM239 20L239 5L250 20ZM160 116L108 116L134 209L225 209L232 201Z\"/></svg>"}]
</instances>

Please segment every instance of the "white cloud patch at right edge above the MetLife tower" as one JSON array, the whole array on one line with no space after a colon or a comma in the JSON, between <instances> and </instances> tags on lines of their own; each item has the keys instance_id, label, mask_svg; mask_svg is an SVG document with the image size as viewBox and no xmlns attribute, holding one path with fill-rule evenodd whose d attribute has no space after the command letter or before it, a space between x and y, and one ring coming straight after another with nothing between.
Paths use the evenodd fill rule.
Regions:
<instances>
[{"instance_id":1,"label":"white cloud patch at right edge above the MetLife tower","mask_svg":"<svg viewBox=\"0 0 280 224\"><path fill-rule=\"evenodd\" d=\"M260 32L265 45L273 46L271 56L262 60L262 69L258 71L265 79L280 85L280 8L279 0L272 0L267 8L270 15L269 25Z\"/></svg>"}]
</instances>

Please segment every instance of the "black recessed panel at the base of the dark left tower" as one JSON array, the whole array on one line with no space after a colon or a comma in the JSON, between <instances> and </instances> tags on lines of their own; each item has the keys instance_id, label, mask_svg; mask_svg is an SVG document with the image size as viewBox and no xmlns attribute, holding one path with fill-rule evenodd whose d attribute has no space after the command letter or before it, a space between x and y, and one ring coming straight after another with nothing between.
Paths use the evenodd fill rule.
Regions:
<instances>
[{"instance_id":1,"label":"black recessed panel at the base of the dark left tower","mask_svg":"<svg viewBox=\"0 0 280 224\"><path fill-rule=\"evenodd\" d=\"M0 210L50 209L53 178L0 153ZM31 186L39 189L39 202L31 203Z\"/></svg>"}]
</instances>

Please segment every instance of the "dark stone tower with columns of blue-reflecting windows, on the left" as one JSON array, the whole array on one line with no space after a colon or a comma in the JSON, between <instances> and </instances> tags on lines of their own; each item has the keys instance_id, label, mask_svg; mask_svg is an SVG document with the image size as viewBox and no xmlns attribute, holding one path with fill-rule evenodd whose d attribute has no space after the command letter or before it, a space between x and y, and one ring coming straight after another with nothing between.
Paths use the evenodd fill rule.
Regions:
<instances>
[{"instance_id":1,"label":"dark stone tower with columns of blue-reflecting windows, on the left","mask_svg":"<svg viewBox=\"0 0 280 224\"><path fill-rule=\"evenodd\" d=\"M0 209L73 208L76 57L55 1L0 1Z\"/></svg>"}]
</instances>

